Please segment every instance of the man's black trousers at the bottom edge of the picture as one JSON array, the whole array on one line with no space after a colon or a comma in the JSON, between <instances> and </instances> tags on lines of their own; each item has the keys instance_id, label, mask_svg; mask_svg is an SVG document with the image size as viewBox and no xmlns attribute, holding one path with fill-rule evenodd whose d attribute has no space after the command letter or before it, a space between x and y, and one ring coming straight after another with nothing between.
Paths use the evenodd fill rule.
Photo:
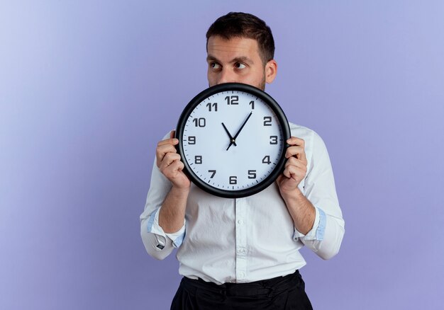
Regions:
<instances>
[{"instance_id":1,"label":"man's black trousers at the bottom edge of the picture","mask_svg":"<svg viewBox=\"0 0 444 310\"><path fill-rule=\"evenodd\" d=\"M184 277L172 300L172 310L313 309L299 271L250 283L216 285Z\"/></svg>"}]
</instances>

